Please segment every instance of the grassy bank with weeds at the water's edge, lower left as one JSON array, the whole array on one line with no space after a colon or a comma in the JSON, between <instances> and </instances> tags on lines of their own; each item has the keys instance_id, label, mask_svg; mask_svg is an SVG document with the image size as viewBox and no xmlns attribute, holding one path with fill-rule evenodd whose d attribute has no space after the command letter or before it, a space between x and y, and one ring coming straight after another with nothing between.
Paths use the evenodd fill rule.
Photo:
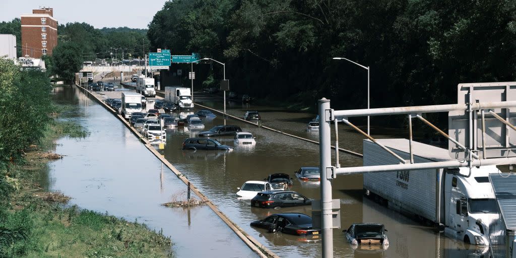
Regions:
<instances>
[{"instance_id":1,"label":"grassy bank with weeds at the water's edge, lower left","mask_svg":"<svg viewBox=\"0 0 516 258\"><path fill-rule=\"evenodd\" d=\"M63 108L69 107L61 107ZM38 146L24 150L23 159L10 164L0 193L7 193L0 209L0 257L170 257L171 240L144 224L63 205L69 198L41 192L48 155L60 137L85 137L78 124L58 121L46 126ZM66 157L61 157L66 158Z\"/></svg>"}]
</instances>

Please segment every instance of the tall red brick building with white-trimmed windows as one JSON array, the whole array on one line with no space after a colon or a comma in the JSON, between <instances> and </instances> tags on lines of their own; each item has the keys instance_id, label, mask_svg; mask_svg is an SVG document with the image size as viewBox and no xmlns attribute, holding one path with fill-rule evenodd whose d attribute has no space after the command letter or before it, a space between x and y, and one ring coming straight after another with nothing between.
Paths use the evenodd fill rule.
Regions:
<instances>
[{"instance_id":1,"label":"tall red brick building with white-trimmed windows","mask_svg":"<svg viewBox=\"0 0 516 258\"><path fill-rule=\"evenodd\" d=\"M33 13L22 14L22 57L41 58L52 55L57 45L57 20L53 8L34 9Z\"/></svg>"}]
</instances>

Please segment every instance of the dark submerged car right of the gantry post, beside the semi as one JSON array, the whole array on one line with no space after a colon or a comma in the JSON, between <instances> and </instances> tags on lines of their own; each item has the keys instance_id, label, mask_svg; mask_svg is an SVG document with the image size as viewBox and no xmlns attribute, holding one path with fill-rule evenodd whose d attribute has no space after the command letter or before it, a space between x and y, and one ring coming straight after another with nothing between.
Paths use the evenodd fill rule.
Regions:
<instances>
[{"instance_id":1,"label":"dark submerged car right of the gantry post, beside the semi","mask_svg":"<svg viewBox=\"0 0 516 258\"><path fill-rule=\"evenodd\" d=\"M346 239L353 249L357 249L359 247L372 249L369 248L372 245L376 245L376 249L389 248L389 239L385 234L387 230L383 224L354 223L351 224L347 230L343 230L343 232L345 232Z\"/></svg>"}]
</instances>

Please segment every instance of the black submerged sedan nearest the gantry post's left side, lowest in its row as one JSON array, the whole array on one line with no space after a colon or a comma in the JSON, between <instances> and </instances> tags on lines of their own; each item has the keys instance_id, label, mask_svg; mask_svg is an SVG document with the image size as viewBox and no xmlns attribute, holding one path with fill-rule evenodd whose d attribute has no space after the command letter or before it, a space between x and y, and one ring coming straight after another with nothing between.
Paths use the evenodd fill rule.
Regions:
<instances>
[{"instance_id":1,"label":"black submerged sedan nearest the gantry post's left side, lowest in its row","mask_svg":"<svg viewBox=\"0 0 516 258\"><path fill-rule=\"evenodd\" d=\"M279 213L265 219L251 222L251 227L267 229L273 233L280 231L298 236L319 235L319 230L312 229L312 218L302 213Z\"/></svg>"}]
</instances>

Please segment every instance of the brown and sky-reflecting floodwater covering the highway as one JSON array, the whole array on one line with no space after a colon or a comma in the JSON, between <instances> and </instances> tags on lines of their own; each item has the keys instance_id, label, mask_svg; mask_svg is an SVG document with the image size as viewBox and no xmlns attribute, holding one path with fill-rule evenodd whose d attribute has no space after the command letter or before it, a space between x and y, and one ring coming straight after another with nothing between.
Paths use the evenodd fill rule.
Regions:
<instances>
[{"instance_id":1,"label":"brown and sky-reflecting floodwater covering the highway","mask_svg":"<svg viewBox=\"0 0 516 258\"><path fill-rule=\"evenodd\" d=\"M106 94L117 92L118 90ZM207 207L187 211L159 206L159 203L169 201L171 196L181 192L185 188L184 184L176 180L168 169L160 172L159 161L102 106L73 89L63 89L59 98L65 103L78 105L78 110L70 116L87 126L91 136L83 140L62 139L58 142L56 152L69 156L53 163L52 189L74 197L73 201L79 206L98 211L107 210L110 214L129 220L138 218L138 221L149 224L152 228L163 228L164 233L171 235L174 243L178 243L174 246L178 257L196 256L189 252L200 252L201 255L197 257L206 256L207 253L213 254L210 248L216 249L217 246L226 244L231 253L215 256L254 255L250 250L246 252L247 247L223 223L214 222L220 220L214 219ZM153 99L148 100L147 109L153 108L153 102ZM209 104L208 99L203 100L203 105L217 106ZM238 104L228 107L229 114L239 117L243 116L245 110L255 109L252 105L244 108ZM198 110L196 108L190 112L173 112L172 115L186 116ZM317 132L306 132L306 125L313 118L312 115L281 111L277 108L262 111L264 109L260 107L260 110L264 125L318 140ZM275 213L299 212L311 215L310 206L261 209L251 207L249 200L238 200L235 196L237 187L245 181L263 180L271 173L287 173L294 178L292 190L309 198L319 199L318 182L301 182L294 175L299 167L318 166L318 145L230 119L227 124L238 125L243 131L256 136L255 146L236 146L232 152L181 150L184 139L223 124L220 116L212 120L202 120L205 123L203 130L167 128L166 147L163 150L165 158L233 222L280 257L319 257L321 249L318 238L268 233L267 230L255 229L249 225L253 220ZM359 134L341 130L339 137L342 142L339 147L362 152L363 137ZM234 146L233 137L216 139ZM340 163L343 167L361 166L362 158L341 152ZM443 233L433 227L427 227L365 198L362 194L362 176L339 176L332 185L333 198L341 200L342 228L333 231L335 257L469 257L471 254L487 251L444 237ZM183 213L183 216L176 216L176 213ZM389 230L388 250L353 250L342 230L355 222L385 224L385 228ZM189 241L202 243L203 247L197 249L203 250L189 249ZM182 250L183 248L187 251Z\"/></svg>"}]
</instances>

